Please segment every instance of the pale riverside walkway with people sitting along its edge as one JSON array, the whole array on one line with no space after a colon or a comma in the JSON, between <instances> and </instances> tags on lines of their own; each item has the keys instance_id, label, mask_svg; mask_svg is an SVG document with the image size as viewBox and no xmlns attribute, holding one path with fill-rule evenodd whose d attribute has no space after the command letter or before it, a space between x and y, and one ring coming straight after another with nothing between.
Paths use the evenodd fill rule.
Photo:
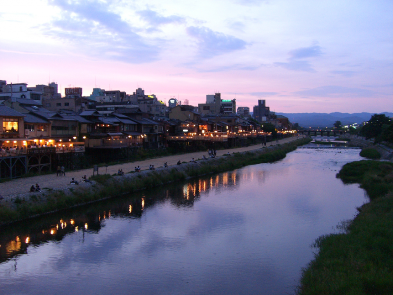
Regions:
<instances>
[{"instance_id":1,"label":"pale riverside walkway with people sitting along its edge","mask_svg":"<svg viewBox=\"0 0 393 295\"><path fill-rule=\"evenodd\" d=\"M279 140L279 144L287 143L290 141L294 141L298 138L301 137L289 137L289 138L284 138ZM272 146L276 145L276 142L269 142L267 143L267 146ZM248 151L248 150L254 150L258 148L262 148L263 145L254 145L254 146L249 146L249 147L244 147L244 148L229 148L229 149L220 149L217 150L217 156L222 156L226 154L228 151L230 153L232 152L241 152L241 151ZM135 161L135 162L128 162L128 163L123 163L123 164L116 164L112 166L108 166L108 168L105 167L100 167L99 168L99 173L100 174L115 174L119 169L122 169L124 173L128 173L130 171L134 171L134 168L136 166L140 166L141 170L147 170L149 169L149 165L154 165L154 167L162 167L164 166L164 162L168 163L168 166L176 165L177 161L181 162L190 162L192 158L201 159L202 156L205 155L208 157L207 151L198 151L198 152L193 152L193 153L187 153L187 154L180 154L180 155L171 155L171 156L165 156L165 157L160 157L160 158L153 158L153 159L146 159L146 160L140 160L140 161ZM31 185L35 185L36 183L39 184L41 189L43 188L64 188L67 187L70 184L71 178L75 178L75 180L80 181L82 177L86 175L87 177L90 177L93 175L93 169L84 169L84 170L78 170L78 171L66 171L65 176L56 176L55 174L50 174L50 175L42 175L42 176L35 176L35 177L27 177L27 178L18 178L18 179L13 179L11 181L3 182L0 183L0 194L4 198L4 201L6 199L10 199L12 197L16 197L20 194L27 193L30 190ZM44 190L45 191L45 190Z\"/></svg>"}]
</instances>

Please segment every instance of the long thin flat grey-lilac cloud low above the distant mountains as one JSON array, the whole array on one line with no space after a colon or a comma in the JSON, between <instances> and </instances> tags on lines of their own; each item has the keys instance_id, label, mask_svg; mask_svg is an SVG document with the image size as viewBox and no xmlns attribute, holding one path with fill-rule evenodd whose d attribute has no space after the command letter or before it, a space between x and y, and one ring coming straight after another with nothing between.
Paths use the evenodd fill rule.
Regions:
<instances>
[{"instance_id":1,"label":"long thin flat grey-lilac cloud low above the distant mountains","mask_svg":"<svg viewBox=\"0 0 393 295\"><path fill-rule=\"evenodd\" d=\"M349 88L342 86L321 86L313 89L296 91L293 93L312 97L373 97L376 94L381 94L367 89Z\"/></svg>"}]
</instances>

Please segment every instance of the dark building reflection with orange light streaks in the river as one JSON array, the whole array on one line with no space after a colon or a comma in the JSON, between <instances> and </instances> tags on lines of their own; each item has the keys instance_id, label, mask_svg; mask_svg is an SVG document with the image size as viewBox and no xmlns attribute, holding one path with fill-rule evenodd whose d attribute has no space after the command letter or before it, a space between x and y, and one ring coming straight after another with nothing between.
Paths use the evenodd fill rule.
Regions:
<instances>
[{"instance_id":1,"label":"dark building reflection with orange light streaks in the river","mask_svg":"<svg viewBox=\"0 0 393 295\"><path fill-rule=\"evenodd\" d=\"M164 190L160 187L149 193L140 193L139 196L97 203L95 207L89 207L91 213L86 213L86 208L77 208L69 213L62 212L41 219L32 219L28 224L3 227L0 232L0 262L17 254L27 253L29 245L59 241L73 233L99 232L102 222L111 216L140 218L149 207L168 201L176 207L192 207L200 198L201 192L221 185L235 185L237 177L236 172L230 172L194 179L184 186L168 185ZM62 218L57 217L60 215ZM67 215L68 217L65 217ZM47 225L43 225L45 223Z\"/></svg>"}]
</instances>

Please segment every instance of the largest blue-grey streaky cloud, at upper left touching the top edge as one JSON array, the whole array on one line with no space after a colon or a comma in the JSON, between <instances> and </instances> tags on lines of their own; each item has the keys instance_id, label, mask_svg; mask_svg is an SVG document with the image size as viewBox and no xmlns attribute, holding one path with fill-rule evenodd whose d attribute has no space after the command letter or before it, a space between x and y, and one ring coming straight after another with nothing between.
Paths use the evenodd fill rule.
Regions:
<instances>
[{"instance_id":1,"label":"largest blue-grey streaky cloud, at upper left touching the top edge","mask_svg":"<svg viewBox=\"0 0 393 295\"><path fill-rule=\"evenodd\" d=\"M138 29L111 12L108 3L96 0L50 0L49 3L64 13L60 19L47 24L44 33L72 42L84 54L130 63L158 58L159 47L151 46L137 33Z\"/></svg>"}]
</instances>

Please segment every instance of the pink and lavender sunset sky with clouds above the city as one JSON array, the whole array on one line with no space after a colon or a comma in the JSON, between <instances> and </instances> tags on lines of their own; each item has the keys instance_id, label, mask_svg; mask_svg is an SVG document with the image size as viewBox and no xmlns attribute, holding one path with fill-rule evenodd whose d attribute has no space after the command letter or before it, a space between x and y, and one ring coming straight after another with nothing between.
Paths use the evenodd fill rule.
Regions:
<instances>
[{"instance_id":1,"label":"pink and lavender sunset sky with clouds above the city","mask_svg":"<svg viewBox=\"0 0 393 295\"><path fill-rule=\"evenodd\" d=\"M392 112L392 15L392 0L3 1L0 80Z\"/></svg>"}]
</instances>

